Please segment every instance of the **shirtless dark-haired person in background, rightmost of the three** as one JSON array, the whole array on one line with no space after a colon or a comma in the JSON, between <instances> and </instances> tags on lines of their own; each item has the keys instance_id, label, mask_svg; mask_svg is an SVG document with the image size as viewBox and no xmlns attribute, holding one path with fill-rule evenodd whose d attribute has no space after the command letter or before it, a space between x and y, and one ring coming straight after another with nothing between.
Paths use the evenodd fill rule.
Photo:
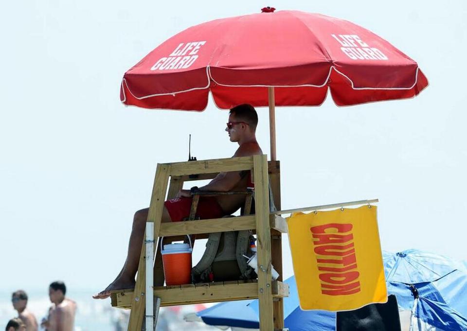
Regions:
<instances>
[{"instance_id":1,"label":"shirtless dark-haired person in background, rightmost of the three","mask_svg":"<svg viewBox=\"0 0 467 331\"><path fill-rule=\"evenodd\" d=\"M49 286L49 298L53 305L49 316L41 323L47 331L73 331L76 303L65 297L67 288L63 281L54 281Z\"/></svg>"}]
</instances>

